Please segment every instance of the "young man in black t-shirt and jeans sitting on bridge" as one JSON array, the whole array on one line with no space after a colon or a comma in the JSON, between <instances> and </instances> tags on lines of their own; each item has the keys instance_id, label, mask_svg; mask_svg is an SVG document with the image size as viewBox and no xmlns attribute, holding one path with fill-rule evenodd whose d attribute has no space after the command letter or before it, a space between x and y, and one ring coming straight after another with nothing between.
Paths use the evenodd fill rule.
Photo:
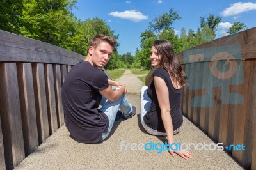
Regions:
<instances>
[{"instance_id":1,"label":"young man in black t-shirt and jeans sitting on bridge","mask_svg":"<svg viewBox=\"0 0 256 170\"><path fill-rule=\"evenodd\" d=\"M106 73L99 69L108 63L115 46L116 40L111 36L93 37L85 61L73 66L65 78L62 88L65 124L70 136L79 143L106 139L117 112L122 111L124 118L136 114L136 108L124 95L126 87L118 84L113 90Z\"/></svg>"}]
</instances>

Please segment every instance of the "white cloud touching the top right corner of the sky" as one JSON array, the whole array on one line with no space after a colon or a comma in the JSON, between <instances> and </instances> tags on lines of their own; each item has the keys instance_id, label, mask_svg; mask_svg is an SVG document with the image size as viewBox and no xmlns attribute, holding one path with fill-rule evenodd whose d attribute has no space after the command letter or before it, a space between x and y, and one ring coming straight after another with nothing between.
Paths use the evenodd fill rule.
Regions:
<instances>
[{"instance_id":1,"label":"white cloud touching the top right corner of the sky","mask_svg":"<svg viewBox=\"0 0 256 170\"><path fill-rule=\"evenodd\" d=\"M221 12L221 15L223 15L224 17L227 17L232 15L237 15L242 12L248 12L250 10L256 10L256 3L238 2L238 3L231 4L230 7L226 8L223 12Z\"/></svg>"}]
</instances>

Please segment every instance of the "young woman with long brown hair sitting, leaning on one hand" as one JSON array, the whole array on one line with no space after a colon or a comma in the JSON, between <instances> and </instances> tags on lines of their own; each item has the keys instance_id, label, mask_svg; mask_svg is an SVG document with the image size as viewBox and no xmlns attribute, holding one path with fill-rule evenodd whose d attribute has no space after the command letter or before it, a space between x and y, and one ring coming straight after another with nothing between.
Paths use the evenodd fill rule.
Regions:
<instances>
[{"instance_id":1,"label":"young woman with long brown hair sitting, leaning on one hand","mask_svg":"<svg viewBox=\"0 0 256 170\"><path fill-rule=\"evenodd\" d=\"M141 89L141 123L149 134L167 136L170 145L175 143L173 135L179 132L183 123L180 105L186 74L167 40L154 42L150 61L154 72L152 82ZM169 152L172 156L177 153L184 159L192 158L186 150L173 148Z\"/></svg>"}]
</instances>

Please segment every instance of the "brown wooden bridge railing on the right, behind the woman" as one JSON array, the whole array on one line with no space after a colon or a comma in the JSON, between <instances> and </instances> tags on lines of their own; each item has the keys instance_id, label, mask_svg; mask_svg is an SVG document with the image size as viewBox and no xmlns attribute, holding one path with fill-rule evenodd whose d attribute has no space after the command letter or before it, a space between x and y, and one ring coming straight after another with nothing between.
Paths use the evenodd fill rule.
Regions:
<instances>
[{"instance_id":1,"label":"brown wooden bridge railing on the right, behind the woman","mask_svg":"<svg viewBox=\"0 0 256 170\"><path fill-rule=\"evenodd\" d=\"M256 169L256 27L177 56L188 75L184 116L244 168Z\"/></svg>"}]
</instances>

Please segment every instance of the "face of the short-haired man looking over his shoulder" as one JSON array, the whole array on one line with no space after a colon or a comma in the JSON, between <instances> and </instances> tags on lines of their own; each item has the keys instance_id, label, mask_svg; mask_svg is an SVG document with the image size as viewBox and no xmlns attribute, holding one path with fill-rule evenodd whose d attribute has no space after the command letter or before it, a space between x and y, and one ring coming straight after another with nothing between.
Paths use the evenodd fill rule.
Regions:
<instances>
[{"instance_id":1,"label":"face of the short-haired man looking over his shoulder","mask_svg":"<svg viewBox=\"0 0 256 170\"><path fill-rule=\"evenodd\" d=\"M108 42L101 42L96 49L90 46L89 54L93 66L104 67L108 63L112 52L113 47Z\"/></svg>"}]
</instances>

